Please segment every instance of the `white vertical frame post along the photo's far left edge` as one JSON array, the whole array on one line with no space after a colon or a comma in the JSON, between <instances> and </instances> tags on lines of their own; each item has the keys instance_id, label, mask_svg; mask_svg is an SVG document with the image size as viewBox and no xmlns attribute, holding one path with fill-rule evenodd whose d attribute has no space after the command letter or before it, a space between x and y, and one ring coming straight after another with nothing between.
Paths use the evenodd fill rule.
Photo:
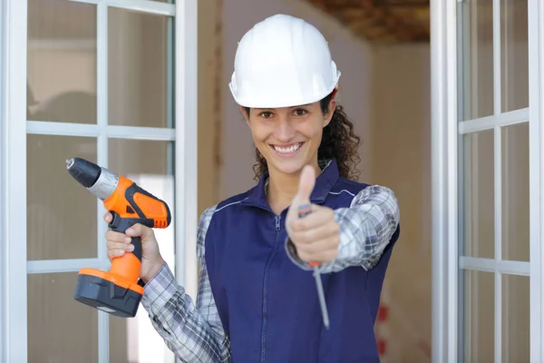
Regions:
<instances>
[{"instance_id":1,"label":"white vertical frame post along the photo's far left edge","mask_svg":"<svg viewBox=\"0 0 544 363\"><path fill-rule=\"evenodd\" d=\"M4 359L25 362L26 344L26 0L4 2L2 235ZM16 158L13 156L16 155ZM10 216L17 216L16 218Z\"/></svg>"}]
</instances>

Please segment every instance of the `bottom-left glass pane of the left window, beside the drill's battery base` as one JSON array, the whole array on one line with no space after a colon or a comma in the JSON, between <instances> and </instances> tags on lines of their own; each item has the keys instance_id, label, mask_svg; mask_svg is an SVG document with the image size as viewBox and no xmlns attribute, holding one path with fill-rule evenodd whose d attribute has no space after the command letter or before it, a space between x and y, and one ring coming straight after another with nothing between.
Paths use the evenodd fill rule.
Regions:
<instances>
[{"instance_id":1,"label":"bottom-left glass pane of the left window, beside the drill's battery base","mask_svg":"<svg viewBox=\"0 0 544 363\"><path fill-rule=\"evenodd\" d=\"M29 362L98 361L97 310L73 299L76 283L77 272L28 275Z\"/></svg>"}]
</instances>

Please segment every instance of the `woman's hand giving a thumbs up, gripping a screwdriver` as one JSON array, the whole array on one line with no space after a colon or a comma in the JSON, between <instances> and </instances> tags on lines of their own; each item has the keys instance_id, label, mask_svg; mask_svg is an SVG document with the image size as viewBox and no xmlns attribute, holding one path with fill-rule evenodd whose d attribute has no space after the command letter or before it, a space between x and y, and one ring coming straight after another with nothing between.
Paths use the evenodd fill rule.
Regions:
<instances>
[{"instance_id":1,"label":"woman's hand giving a thumbs up, gripping a screwdriver","mask_svg":"<svg viewBox=\"0 0 544 363\"><path fill-rule=\"evenodd\" d=\"M340 225L335 221L335 211L310 203L315 184L316 171L306 165L300 175L298 192L287 211L287 234L300 260L329 262L338 255ZM299 217L301 208L311 212Z\"/></svg>"}]
</instances>

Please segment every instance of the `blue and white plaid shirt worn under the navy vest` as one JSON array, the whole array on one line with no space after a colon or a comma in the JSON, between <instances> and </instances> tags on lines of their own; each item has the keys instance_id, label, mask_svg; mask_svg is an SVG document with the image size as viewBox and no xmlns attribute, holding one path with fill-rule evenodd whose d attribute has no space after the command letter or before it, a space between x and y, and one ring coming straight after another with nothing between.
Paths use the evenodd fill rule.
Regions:
<instances>
[{"instance_id":1,"label":"blue and white plaid shirt worn under the navy vest","mask_svg":"<svg viewBox=\"0 0 544 363\"><path fill-rule=\"evenodd\" d=\"M229 340L219 319L204 259L204 241L215 209L216 206L204 211L199 220L196 306L166 264L145 285L141 300L153 327L184 362L226 362L230 356ZM397 200L390 189L369 186L354 196L350 208L335 210L335 221L340 224L338 256L320 265L321 272L340 271L348 266L370 270L380 259L399 223ZM311 270L297 259L288 240L286 250L293 262L302 269Z\"/></svg>"}]
</instances>

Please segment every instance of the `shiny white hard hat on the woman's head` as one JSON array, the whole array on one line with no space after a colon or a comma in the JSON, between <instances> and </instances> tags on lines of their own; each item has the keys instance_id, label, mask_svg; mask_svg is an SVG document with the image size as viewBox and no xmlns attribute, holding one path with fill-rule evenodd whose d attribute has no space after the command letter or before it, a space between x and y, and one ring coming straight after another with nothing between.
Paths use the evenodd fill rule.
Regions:
<instances>
[{"instance_id":1,"label":"shiny white hard hat on the woman's head","mask_svg":"<svg viewBox=\"0 0 544 363\"><path fill-rule=\"evenodd\" d=\"M273 15L239 42L228 86L242 106L291 107L325 98L338 78L325 37L315 26Z\"/></svg>"}]
</instances>

